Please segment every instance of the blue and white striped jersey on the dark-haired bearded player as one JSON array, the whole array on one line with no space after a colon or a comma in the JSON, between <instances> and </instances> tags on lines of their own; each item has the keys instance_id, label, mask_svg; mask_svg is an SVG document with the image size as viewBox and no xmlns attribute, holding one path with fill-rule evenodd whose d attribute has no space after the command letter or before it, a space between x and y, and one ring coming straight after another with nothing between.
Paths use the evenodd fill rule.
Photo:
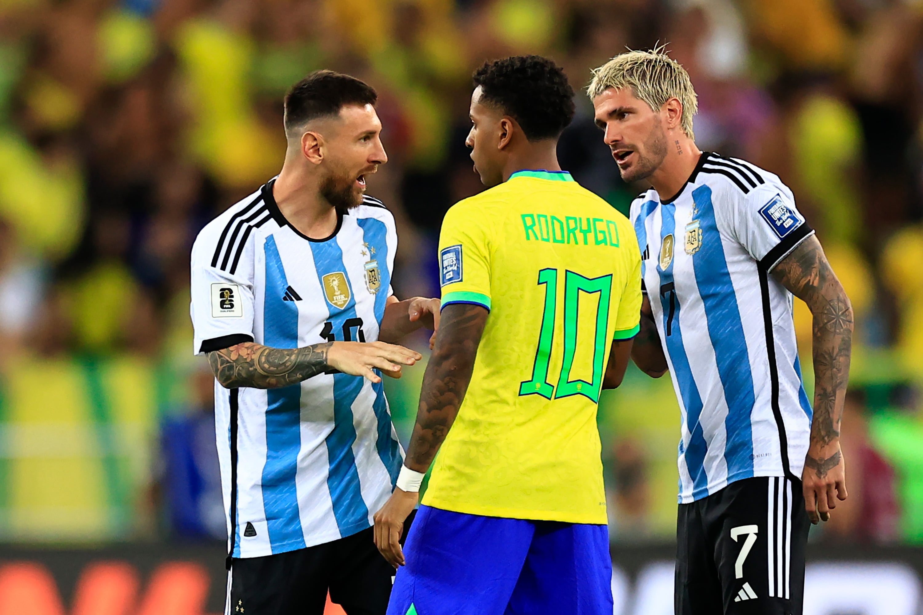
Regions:
<instances>
[{"instance_id":1,"label":"blue and white striped jersey on the dark-haired bearded player","mask_svg":"<svg viewBox=\"0 0 923 615\"><path fill-rule=\"evenodd\" d=\"M377 340L397 249L390 212L366 196L332 236L311 240L282 217L272 183L198 234L195 351ZM357 376L323 373L271 390L216 383L215 423L234 557L371 526L401 469L384 389Z\"/></svg>"}]
</instances>

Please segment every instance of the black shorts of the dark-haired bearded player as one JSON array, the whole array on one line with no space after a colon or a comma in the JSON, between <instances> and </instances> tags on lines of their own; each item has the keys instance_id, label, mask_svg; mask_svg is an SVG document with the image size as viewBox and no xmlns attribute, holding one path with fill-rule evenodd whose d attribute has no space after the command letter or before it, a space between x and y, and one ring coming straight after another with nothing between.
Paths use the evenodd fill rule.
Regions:
<instances>
[{"instance_id":1,"label":"black shorts of the dark-haired bearded player","mask_svg":"<svg viewBox=\"0 0 923 615\"><path fill-rule=\"evenodd\" d=\"M348 615L384 615L394 569L373 536L369 527L307 549L234 558L225 614L323 615L330 591Z\"/></svg>"}]
</instances>

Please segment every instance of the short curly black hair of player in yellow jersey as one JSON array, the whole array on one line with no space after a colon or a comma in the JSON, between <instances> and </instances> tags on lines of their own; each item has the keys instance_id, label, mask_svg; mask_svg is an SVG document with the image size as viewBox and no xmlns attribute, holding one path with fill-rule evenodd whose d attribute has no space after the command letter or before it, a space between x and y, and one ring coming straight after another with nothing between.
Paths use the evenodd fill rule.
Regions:
<instances>
[{"instance_id":1,"label":"short curly black hair of player in yellow jersey","mask_svg":"<svg viewBox=\"0 0 923 615\"><path fill-rule=\"evenodd\" d=\"M485 62L473 78L483 100L519 122L530 141L560 136L574 118L574 90L568 77L541 55Z\"/></svg>"}]
</instances>

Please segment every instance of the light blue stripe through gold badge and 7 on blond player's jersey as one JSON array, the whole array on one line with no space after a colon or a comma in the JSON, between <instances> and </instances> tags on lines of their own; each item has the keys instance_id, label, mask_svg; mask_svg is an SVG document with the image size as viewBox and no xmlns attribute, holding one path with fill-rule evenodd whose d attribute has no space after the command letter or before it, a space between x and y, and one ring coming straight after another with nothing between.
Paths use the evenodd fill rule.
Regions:
<instances>
[{"instance_id":1,"label":"light blue stripe through gold badge and 7 on blond player's jersey","mask_svg":"<svg viewBox=\"0 0 923 615\"><path fill-rule=\"evenodd\" d=\"M676 206L673 203L661 205L661 216L663 224L661 225L660 237L661 244L667 235L673 235L676 239ZM677 242L674 241L674 248ZM657 274L660 276L660 286L673 283L673 261L666 266L666 270L660 267L659 259L657 263ZM689 446L686 447L686 467L689 469L689 476L692 479L692 495L699 499L708 495L708 476L705 474L705 452L708 445L705 444L705 437L701 431L699 418L701 416L701 396L699 387L695 384L692 377L692 369L689 367L689 357L686 355L686 349L683 346L683 334L679 328L679 302L676 299L676 290L669 290L661 293L660 289L648 289L648 297L654 293L659 295L661 307L664 311L664 333L670 332L665 336L666 350L670 353L670 361L673 363L673 373L679 384L679 394L683 398L683 406L686 407L686 425L689 429ZM673 295L674 313L670 314L671 294ZM672 320L672 322L671 322Z\"/></svg>"}]
</instances>

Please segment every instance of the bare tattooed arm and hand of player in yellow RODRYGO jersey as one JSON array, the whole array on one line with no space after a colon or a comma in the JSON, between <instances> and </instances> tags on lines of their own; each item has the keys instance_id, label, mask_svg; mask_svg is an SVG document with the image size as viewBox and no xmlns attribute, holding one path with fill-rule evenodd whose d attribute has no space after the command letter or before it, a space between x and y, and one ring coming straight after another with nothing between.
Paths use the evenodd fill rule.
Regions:
<instances>
[{"instance_id":1,"label":"bare tattooed arm and hand of player in yellow RODRYGO jersey","mask_svg":"<svg viewBox=\"0 0 923 615\"><path fill-rule=\"evenodd\" d=\"M484 334L487 314L480 305L452 303L446 306L442 314L446 321L439 330L436 349L423 377L420 408L404 466L426 472L449 434L471 382L474 357ZM419 493L397 488L388 503L375 514L375 544L394 567L404 563L399 540L404 520L418 500Z\"/></svg>"}]
</instances>

